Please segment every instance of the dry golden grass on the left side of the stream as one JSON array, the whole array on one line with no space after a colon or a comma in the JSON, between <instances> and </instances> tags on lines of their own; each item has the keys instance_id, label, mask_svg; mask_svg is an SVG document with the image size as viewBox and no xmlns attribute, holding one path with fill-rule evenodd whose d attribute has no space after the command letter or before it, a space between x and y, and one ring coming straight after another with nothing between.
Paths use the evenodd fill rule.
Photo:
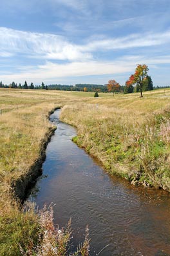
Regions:
<instances>
[{"instance_id":1,"label":"dry golden grass on the left side of the stream","mask_svg":"<svg viewBox=\"0 0 170 256\"><path fill-rule=\"evenodd\" d=\"M32 175L30 169L42 155L42 141L52 127L48 112L70 98L63 92L0 90L0 255L35 255L34 246L41 250L37 243L44 231L39 217L30 208L19 210L12 188L17 183L15 191L24 191L24 180ZM61 244L66 246L64 233Z\"/></svg>"}]
</instances>

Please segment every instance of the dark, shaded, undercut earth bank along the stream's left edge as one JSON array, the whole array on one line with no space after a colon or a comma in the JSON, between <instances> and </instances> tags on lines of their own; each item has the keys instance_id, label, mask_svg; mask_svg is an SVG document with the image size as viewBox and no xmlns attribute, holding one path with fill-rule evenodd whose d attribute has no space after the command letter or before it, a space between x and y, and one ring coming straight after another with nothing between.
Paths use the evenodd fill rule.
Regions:
<instances>
[{"instance_id":1,"label":"dark, shaded, undercut earth bank along the stream's left edge","mask_svg":"<svg viewBox=\"0 0 170 256\"><path fill-rule=\"evenodd\" d=\"M52 109L52 111L48 112L48 119L50 118L50 115L57 109L59 109L59 107L56 107L55 109ZM29 194L30 189L32 189L32 187L35 185L37 178L42 175L41 167L44 160L46 159L46 147L56 129L56 126L49 127L48 131L44 135L44 139L41 142L39 157L35 163L30 167L26 175L22 175L19 179L12 182L12 193L14 194L14 197L19 198L21 202L24 202Z\"/></svg>"}]
</instances>

